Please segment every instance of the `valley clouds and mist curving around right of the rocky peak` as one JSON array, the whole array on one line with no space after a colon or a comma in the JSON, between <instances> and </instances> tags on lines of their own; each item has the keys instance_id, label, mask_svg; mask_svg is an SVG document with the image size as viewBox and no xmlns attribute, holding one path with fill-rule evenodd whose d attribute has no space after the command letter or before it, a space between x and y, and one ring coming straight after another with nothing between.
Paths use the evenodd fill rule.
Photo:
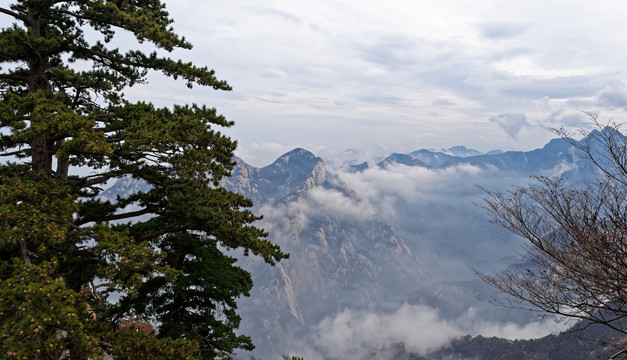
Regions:
<instances>
[{"instance_id":1,"label":"valley clouds and mist curving around right of the rocky peak","mask_svg":"<svg viewBox=\"0 0 627 360\"><path fill-rule=\"evenodd\" d=\"M561 164L545 175L569 169ZM261 207L264 228L271 236L289 239L283 234L304 229L321 214L352 221L383 218L426 269L424 283L396 290L437 293L437 301L331 312L310 324L306 336L290 339L286 351L308 360L358 359L369 349L402 342L410 351L425 354L467 334L529 339L565 329L555 319L491 304L490 297L497 294L476 277L476 271L498 271L521 262L524 251L522 239L489 222L481 208L483 189L507 191L527 185L534 181L529 174L472 165L429 169L399 164L371 164L362 172L335 167L328 172L335 186L313 188L304 198ZM350 191L342 190L346 188ZM289 251L297 244L281 245ZM469 293L469 288L482 290Z\"/></svg>"}]
</instances>

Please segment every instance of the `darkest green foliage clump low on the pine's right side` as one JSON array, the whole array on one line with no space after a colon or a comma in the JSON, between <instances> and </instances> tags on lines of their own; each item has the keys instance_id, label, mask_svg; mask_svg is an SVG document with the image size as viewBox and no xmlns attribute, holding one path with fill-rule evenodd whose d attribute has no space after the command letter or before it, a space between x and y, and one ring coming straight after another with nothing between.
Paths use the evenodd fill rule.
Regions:
<instances>
[{"instance_id":1,"label":"darkest green foliage clump low on the pine's right side","mask_svg":"<svg viewBox=\"0 0 627 360\"><path fill-rule=\"evenodd\" d=\"M167 254L165 262L182 275L174 283L163 276L148 280L129 305L156 318L161 324L160 338L194 339L204 345L205 358L216 356L216 349L229 344L252 350L250 338L228 331L239 325L235 300L248 295L250 274L234 266L235 259L224 255L216 241L206 236L171 234L161 238L158 246Z\"/></svg>"}]
</instances>

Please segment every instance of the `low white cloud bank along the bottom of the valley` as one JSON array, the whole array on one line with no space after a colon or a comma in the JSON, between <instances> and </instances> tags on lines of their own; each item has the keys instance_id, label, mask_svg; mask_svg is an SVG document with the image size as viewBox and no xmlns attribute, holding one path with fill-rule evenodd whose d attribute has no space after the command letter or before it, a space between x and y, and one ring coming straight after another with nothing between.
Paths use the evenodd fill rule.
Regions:
<instances>
[{"instance_id":1,"label":"low white cloud bank along the bottom of the valley","mask_svg":"<svg viewBox=\"0 0 627 360\"><path fill-rule=\"evenodd\" d=\"M466 334L514 340L538 338L565 329L564 324L552 319L524 325L486 322L472 308L454 320L442 319L437 309L425 305L403 304L390 312L345 309L314 326L309 339L296 340L294 353L306 354L311 360L359 359L368 350L402 342L408 352L425 355ZM385 353L377 358L394 360L386 358Z\"/></svg>"}]
</instances>

